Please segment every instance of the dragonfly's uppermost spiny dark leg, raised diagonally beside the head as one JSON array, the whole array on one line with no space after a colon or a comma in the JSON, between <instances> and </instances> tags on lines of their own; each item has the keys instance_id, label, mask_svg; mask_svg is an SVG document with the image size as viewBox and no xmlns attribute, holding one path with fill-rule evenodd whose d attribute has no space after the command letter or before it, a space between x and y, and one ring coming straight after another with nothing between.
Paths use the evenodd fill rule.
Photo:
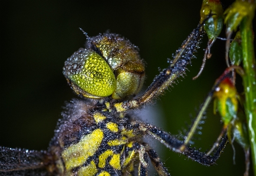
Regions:
<instances>
[{"instance_id":1,"label":"dragonfly's uppermost spiny dark leg, raised diagonally beside the head","mask_svg":"<svg viewBox=\"0 0 256 176\"><path fill-rule=\"evenodd\" d=\"M186 71L186 65L191 64L191 59L195 58L193 53L196 51L198 45L201 43L201 38L204 32L202 32L202 24L199 24L196 29L188 36L183 42L182 46L176 51L173 56L173 60L169 61L169 67L165 68L157 75L146 89L143 95L126 102L118 102L114 104L114 107L118 112L126 111L127 109L136 109L146 102L151 101L165 91L171 85L175 79L182 77Z\"/></svg>"}]
</instances>

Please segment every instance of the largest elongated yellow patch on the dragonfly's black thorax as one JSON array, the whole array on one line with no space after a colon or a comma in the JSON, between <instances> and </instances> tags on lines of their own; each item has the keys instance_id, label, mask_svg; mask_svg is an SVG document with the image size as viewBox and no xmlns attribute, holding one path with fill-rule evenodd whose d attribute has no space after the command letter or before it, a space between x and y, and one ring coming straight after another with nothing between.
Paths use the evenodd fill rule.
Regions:
<instances>
[{"instance_id":1,"label":"largest elongated yellow patch on the dragonfly's black thorax","mask_svg":"<svg viewBox=\"0 0 256 176\"><path fill-rule=\"evenodd\" d=\"M103 136L101 129L95 129L91 134L83 137L77 144L66 148L61 154L66 170L82 165L88 157L93 156L100 147Z\"/></svg>"}]
</instances>

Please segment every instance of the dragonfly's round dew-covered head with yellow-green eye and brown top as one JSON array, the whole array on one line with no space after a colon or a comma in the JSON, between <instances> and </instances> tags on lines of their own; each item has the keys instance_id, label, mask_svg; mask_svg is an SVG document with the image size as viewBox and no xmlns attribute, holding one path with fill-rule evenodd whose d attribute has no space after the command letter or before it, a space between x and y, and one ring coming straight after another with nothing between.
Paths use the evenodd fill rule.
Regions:
<instances>
[{"instance_id":1,"label":"dragonfly's round dew-covered head with yellow-green eye and brown top","mask_svg":"<svg viewBox=\"0 0 256 176\"><path fill-rule=\"evenodd\" d=\"M136 95L145 79L137 48L116 34L97 35L65 61L63 74L77 94L121 99Z\"/></svg>"}]
</instances>

